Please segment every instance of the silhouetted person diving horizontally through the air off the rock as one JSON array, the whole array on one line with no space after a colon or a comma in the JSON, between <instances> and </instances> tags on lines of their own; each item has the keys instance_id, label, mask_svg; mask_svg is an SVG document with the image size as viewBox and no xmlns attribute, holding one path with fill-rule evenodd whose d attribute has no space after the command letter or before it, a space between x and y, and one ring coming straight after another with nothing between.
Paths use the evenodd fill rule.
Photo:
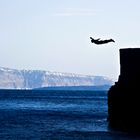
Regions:
<instances>
[{"instance_id":1,"label":"silhouetted person diving horizontally through the air off the rock","mask_svg":"<svg viewBox=\"0 0 140 140\"><path fill-rule=\"evenodd\" d=\"M115 42L113 39L100 40L100 38L93 39L92 37L90 37L90 39L91 39L92 43L95 43L97 45L106 44L106 43L109 43L109 42Z\"/></svg>"}]
</instances>

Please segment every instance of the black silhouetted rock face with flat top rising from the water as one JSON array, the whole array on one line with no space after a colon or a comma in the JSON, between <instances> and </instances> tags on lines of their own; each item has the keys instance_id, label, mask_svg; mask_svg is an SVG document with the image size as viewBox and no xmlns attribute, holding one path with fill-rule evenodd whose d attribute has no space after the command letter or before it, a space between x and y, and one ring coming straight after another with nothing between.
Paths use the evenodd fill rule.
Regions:
<instances>
[{"instance_id":1,"label":"black silhouetted rock face with flat top rising from the water","mask_svg":"<svg viewBox=\"0 0 140 140\"><path fill-rule=\"evenodd\" d=\"M109 127L140 133L140 48L120 49L120 76L108 91Z\"/></svg>"}]
</instances>

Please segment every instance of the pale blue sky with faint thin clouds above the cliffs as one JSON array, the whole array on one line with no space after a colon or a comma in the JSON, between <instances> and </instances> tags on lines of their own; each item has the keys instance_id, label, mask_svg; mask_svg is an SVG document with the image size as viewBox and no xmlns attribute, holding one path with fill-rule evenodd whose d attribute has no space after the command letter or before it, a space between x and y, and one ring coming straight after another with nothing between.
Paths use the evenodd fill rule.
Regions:
<instances>
[{"instance_id":1,"label":"pale blue sky with faint thin clouds above the cliffs","mask_svg":"<svg viewBox=\"0 0 140 140\"><path fill-rule=\"evenodd\" d=\"M118 79L140 47L139 0L0 0L0 67ZM90 38L115 40L95 45Z\"/></svg>"}]
</instances>

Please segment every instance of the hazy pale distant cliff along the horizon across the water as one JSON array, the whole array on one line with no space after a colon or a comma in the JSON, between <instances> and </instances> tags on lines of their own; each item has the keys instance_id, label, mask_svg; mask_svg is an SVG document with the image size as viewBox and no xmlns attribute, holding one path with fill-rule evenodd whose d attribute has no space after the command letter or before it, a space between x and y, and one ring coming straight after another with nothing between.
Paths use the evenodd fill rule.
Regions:
<instances>
[{"instance_id":1,"label":"hazy pale distant cliff along the horizon across the water","mask_svg":"<svg viewBox=\"0 0 140 140\"><path fill-rule=\"evenodd\" d=\"M101 86L113 81L103 76L86 76L41 70L16 70L0 67L1 89L33 89L54 86Z\"/></svg>"}]
</instances>

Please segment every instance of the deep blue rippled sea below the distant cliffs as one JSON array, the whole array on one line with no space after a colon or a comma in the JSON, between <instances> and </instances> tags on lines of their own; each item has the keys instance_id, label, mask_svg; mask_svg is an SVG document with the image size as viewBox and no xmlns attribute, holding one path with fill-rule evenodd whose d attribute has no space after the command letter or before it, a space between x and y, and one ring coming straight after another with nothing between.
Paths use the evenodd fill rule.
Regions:
<instances>
[{"instance_id":1,"label":"deep blue rippled sea below the distant cliffs","mask_svg":"<svg viewBox=\"0 0 140 140\"><path fill-rule=\"evenodd\" d=\"M107 116L107 91L0 90L0 140L140 140Z\"/></svg>"}]
</instances>

